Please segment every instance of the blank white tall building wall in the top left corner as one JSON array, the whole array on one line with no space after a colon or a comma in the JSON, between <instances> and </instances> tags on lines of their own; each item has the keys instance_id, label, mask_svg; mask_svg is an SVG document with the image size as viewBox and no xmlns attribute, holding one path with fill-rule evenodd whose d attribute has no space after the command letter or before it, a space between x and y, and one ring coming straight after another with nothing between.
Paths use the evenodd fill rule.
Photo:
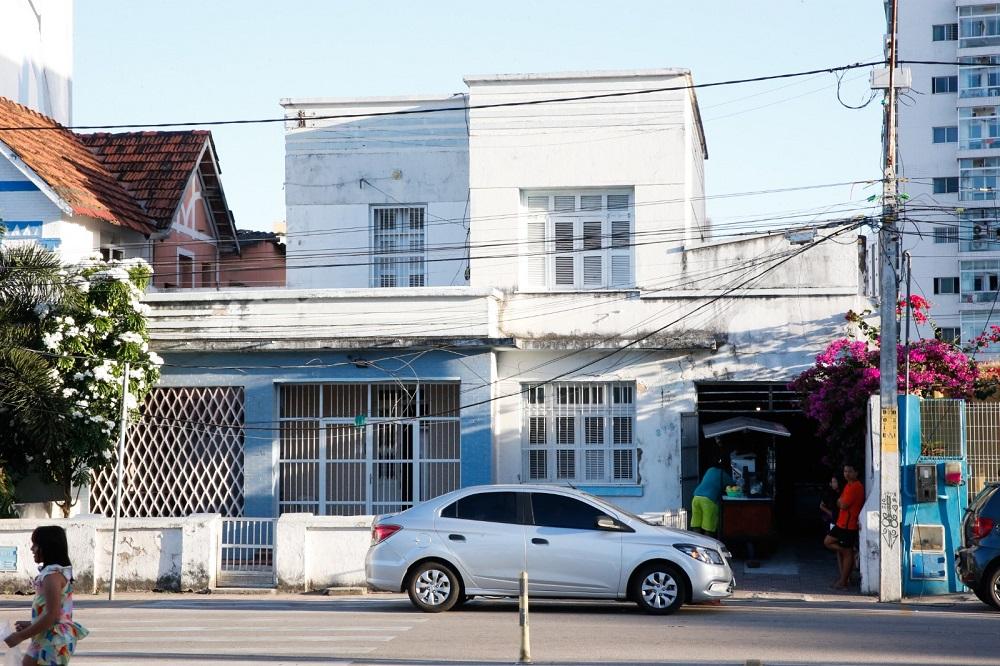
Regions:
<instances>
[{"instance_id":1,"label":"blank white tall building wall in the top left corner","mask_svg":"<svg viewBox=\"0 0 1000 666\"><path fill-rule=\"evenodd\" d=\"M0 3L0 97L72 124L73 0Z\"/></svg>"}]
</instances>

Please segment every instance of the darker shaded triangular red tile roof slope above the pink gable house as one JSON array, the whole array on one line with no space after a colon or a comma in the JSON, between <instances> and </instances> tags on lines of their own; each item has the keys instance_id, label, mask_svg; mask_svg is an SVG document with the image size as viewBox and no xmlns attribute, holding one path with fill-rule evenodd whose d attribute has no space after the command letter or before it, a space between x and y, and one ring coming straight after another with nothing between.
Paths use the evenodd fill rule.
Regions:
<instances>
[{"instance_id":1,"label":"darker shaded triangular red tile roof slope above the pink gable house","mask_svg":"<svg viewBox=\"0 0 1000 666\"><path fill-rule=\"evenodd\" d=\"M161 231L170 227L188 179L212 137L204 130L78 136L142 202Z\"/></svg>"}]
</instances>

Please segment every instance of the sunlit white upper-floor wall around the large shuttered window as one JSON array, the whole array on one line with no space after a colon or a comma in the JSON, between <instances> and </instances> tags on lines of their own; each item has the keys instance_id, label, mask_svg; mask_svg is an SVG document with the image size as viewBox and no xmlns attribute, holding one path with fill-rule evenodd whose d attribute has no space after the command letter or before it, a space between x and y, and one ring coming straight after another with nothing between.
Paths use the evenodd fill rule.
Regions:
<instances>
[{"instance_id":1,"label":"sunlit white upper-floor wall around the large shuttered window","mask_svg":"<svg viewBox=\"0 0 1000 666\"><path fill-rule=\"evenodd\" d=\"M684 86L686 70L467 77L470 104L507 103ZM623 188L634 192L636 284L671 272L671 252L704 227L703 156L693 95L637 96L489 109L469 114L473 247L517 247L523 190ZM641 128L641 129L640 129ZM697 150L693 147L697 146ZM697 201L696 201L697 199ZM490 254L490 253L485 253ZM472 284L512 289L509 257L474 259Z\"/></svg>"}]
</instances>

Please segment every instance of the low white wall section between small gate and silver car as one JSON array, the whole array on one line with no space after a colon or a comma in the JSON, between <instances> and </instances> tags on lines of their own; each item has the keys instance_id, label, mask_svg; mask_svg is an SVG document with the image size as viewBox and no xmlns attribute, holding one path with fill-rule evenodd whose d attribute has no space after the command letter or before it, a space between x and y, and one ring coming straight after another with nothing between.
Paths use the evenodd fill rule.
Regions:
<instances>
[{"instance_id":1,"label":"low white wall section between small gate and silver car","mask_svg":"<svg viewBox=\"0 0 1000 666\"><path fill-rule=\"evenodd\" d=\"M278 587L308 591L365 585L365 553L373 519L282 514L274 537Z\"/></svg>"}]
</instances>

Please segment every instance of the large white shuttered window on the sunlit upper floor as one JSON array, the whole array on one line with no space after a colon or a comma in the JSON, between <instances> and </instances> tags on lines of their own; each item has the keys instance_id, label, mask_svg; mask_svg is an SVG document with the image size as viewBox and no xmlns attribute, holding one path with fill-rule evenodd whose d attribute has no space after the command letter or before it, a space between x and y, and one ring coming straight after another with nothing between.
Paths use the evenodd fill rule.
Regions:
<instances>
[{"instance_id":1,"label":"large white shuttered window on the sunlit upper floor","mask_svg":"<svg viewBox=\"0 0 1000 666\"><path fill-rule=\"evenodd\" d=\"M522 209L524 287L575 290L633 286L630 194L526 193Z\"/></svg>"}]
</instances>

